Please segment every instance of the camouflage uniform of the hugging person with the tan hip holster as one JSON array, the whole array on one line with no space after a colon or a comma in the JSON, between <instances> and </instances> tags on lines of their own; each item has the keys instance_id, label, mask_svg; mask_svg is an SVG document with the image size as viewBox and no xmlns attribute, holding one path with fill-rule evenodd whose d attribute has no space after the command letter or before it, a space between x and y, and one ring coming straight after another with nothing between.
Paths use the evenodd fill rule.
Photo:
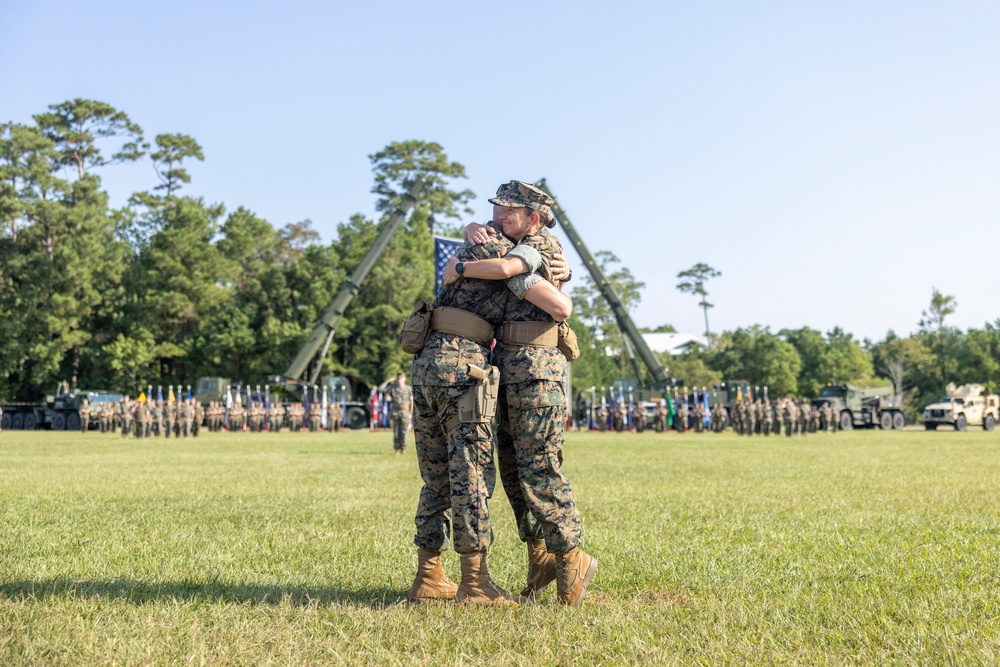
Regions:
<instances>
[{"instance_id":1,"label":"camouflage uniform of the hugging person with the tan hip holster","mask_svg":"<svg viewBox=\"0 0 1000 667\"><path fill-rule=\"evenodd\" d=\"M456 256L459 261L500 257L512 245L497 235L490 237L485 245L463 244ZM460 308L495 325L503 311L491 297L505 289L502 282L463 278L445 286L434 307ZM469 377L468 366L486 369L488 358L486 345L440 331L432 332L413 358L410 370L413 433L424 482L414 520L417 530L413 543L422 549L448 548L449 510L455 551L484 552L492 541L487 502L496 483L493 424L456 423L460 397L477 382ZM399 400L392 397L394 409Z\"/></svg>"}]
</instances>

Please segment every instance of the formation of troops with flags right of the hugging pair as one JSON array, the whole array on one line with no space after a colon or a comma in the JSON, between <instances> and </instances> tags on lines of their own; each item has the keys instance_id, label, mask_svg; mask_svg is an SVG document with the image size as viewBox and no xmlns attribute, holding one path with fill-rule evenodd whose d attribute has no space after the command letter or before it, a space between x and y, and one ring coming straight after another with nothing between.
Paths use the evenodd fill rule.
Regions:
<instances>
[{"instance_id":1,"label":"formation of troops with flags right of the hugging pair","mask_svg":"<svg viewBox=\"0 0 1000 667\"><path fill-rule=\"evenodd\" d=\"M727 426L732 426L739 435L769 436L784 432L786 436L792 436L836 432L839 422L840 415L829 403L814 406L806 399L795 401L791 397L773 402L744 399L728 410L721 403L716 403L707 415L703 403L688 406L681 402L673 419L664 401L657 403L652 410L647 410L641 402L632 410L621 402L613 407L601 403L593 409L594 428L598 431L634 429L636 433L642 433L652 429L663 433L674 428L681 433L721 433ZM582 428L584 421L578 421L577 425Z\"/></svg>"}]
</instances>

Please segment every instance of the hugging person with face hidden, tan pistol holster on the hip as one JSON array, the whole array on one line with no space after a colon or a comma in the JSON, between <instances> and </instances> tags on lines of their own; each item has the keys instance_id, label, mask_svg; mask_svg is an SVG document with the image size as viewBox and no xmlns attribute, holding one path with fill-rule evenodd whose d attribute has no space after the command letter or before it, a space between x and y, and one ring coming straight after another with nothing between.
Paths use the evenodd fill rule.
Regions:
<instances>
[{"instance_id":1,"label":"hugging person with face hidden, tan pistol holster on the hip","mask_svg":"<svg viewBox=\"0 0 1000 667\"><path fill-rule=\"evenodd\" d=\"M493 583L486 565L493 534L487 501L496 479L492 418L500 382L499 369L488 363L488 356L494 326L501 323L504 312L494 297L507 290L498 281L458 280L464 262L476 258L504 255L511 275L541 264L534 249L512 248L513 243L501 235L459 248L461 261L453 267L453 280L446 272L445 287L434 301L431 333L413 359L413 426L424 486L415 520L419 564L410 591L412 601L451 597L474 604L519 601ZM529 286L531 278L534 286ZM540 303L548 305L544 299L549 298L565 314L571 309L569 299L537 275L508 280L506 286L519 297L542 294ZM396 391L405 386L404 380L400 374L388 392L394 413L402 401L408 401ZM457 587L440 567L440 552L447 548L449 509L455 551L462 562L462 581Z\"/></svg>"}]
</instances>

